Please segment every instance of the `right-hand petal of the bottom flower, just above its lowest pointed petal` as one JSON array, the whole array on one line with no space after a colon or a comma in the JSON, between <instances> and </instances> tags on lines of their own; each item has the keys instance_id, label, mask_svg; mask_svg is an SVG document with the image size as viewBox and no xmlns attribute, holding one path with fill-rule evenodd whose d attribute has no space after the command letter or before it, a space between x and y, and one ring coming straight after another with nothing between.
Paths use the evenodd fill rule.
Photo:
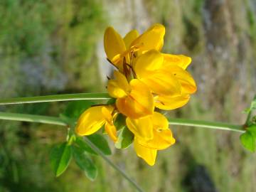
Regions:
<instances>
[{"instance_id":1,"label":"right-hand petal of the bottom flower, just above its lowest pointed petal","mask_svg":"<svg viewBox=\"0 0 256 192\"><path fill-rule=\"evenodd\" d=\"M154 129L153 134L153 139L138 139L137 142L149 149L156 150L166 149L167 147L175 143L175 139L170 129L164 129L161 131Z\"/></svg>"}]
</instances>

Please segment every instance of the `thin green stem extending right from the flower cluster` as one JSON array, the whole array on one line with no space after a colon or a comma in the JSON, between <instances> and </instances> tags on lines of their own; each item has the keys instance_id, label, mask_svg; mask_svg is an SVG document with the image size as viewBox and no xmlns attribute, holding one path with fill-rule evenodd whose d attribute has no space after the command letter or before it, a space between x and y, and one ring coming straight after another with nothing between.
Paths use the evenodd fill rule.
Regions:
<instances>
[{"instance_id":1,"label":"thin green stem extending right from the flower cluster","mask_svg":"<svg viewBox=\"0 0 256 192\"><path fill-rule=\"evenodd\" d=\"M233 131L233 132L245 132L245 130L243 129L243 126L240 124L229 124L229 123L223 123L223 122L208 122L208 121L201 121L201 120L169 118L169 124L183 125L183 126L190 126L190 127L203 127L208 129L221 129L221 130Z\"/></svg>"}]
</instances>

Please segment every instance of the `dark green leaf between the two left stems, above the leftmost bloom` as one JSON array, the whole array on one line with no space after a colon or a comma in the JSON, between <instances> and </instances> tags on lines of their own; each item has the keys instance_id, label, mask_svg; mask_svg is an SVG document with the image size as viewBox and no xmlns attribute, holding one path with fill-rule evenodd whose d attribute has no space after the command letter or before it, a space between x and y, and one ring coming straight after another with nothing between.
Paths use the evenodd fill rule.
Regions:
<instances>
[{"instance_id":1,"label":"dark green leaf between the two left stems, above the leftmost bloom","mask_svg":"<svg viewBox=\"0 0 256 192\"><path fill-rule=\"evenodd\" d=\"M78 119L78 117L80 117L80 114L82 114L82 112L87 110L92 105L95 105L95 102L92 102L90 100L78 100L69 102L65 111L63 112L63 115L73 119Z\"/></svg>"}]
</instances>

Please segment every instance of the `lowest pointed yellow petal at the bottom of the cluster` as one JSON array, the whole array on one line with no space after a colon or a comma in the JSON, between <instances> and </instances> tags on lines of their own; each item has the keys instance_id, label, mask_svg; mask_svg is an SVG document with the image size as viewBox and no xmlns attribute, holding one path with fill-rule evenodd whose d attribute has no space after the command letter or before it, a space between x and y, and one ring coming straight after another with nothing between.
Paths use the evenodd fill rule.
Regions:
<instances>
[{"instance_id":1,"label":"lowest pointed yellow petal at the bottom of the cluster","mask_svg":"<svg viewBox=\"0 0 256 192\"><path fill-rule=\"evenodd\" d=\"M137 153L137 156L144 159L144 161L146 161L146 163L149 164L150 166L154 166L157 154L157 151L155 149L148 149L140 145L137 142L136 137L134 139L134 149Z\"/></svg>"}]
</instances>

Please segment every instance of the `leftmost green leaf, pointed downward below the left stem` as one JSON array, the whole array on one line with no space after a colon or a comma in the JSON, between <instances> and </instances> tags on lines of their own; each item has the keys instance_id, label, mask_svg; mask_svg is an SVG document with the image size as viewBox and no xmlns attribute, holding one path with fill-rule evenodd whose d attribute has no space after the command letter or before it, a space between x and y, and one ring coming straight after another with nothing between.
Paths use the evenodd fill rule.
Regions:
<instances>
[{"instance_id":1,"label":"leftmost green leaf, pointed downward below the left stem","mask_svg":"<svg viewBox=\"0 0 256 192\"><path fill-rule=\"evenodd\" d=\"M55 176L63 174L68 168L71 158L71 147L67 142L53 146L50 151L50 163L53 166Z\"/></svg>"}]
</instances>

